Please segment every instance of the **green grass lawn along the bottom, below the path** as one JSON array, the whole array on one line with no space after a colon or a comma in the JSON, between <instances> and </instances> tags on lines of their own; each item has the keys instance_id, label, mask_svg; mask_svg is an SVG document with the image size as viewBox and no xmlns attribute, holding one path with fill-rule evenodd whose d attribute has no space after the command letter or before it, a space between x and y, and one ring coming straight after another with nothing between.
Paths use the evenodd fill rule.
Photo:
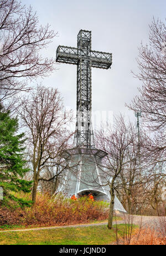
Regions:
<instances>
[{"instance_id":1,"label":"green grass lawn along the bottom, below the path","mask_svg":"<svg viewBox=\"0 0 166 256\"><path fill-rule=\"evenodd\" d=\"M118 234L123 235L125 224L118 224ZM116 229L107 225L1 232L0 244L60 244L60 245L105 245L116 240Z\"/></svg>"}]
</instances>

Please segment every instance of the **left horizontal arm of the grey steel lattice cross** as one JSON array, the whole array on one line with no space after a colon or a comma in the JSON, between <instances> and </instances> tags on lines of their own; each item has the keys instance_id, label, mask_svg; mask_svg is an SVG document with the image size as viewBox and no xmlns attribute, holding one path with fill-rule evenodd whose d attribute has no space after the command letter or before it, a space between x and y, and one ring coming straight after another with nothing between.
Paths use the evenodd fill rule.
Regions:
<instances>
[{"instance_id":1,"label":"left horizontal arm of the grey steel lattice cross","mask_svg":"<svg viewBox=\"0 0 166 256\"><path fill-rule=\"evenodd\" d=\"M77 56L77 48L68 46L58 46L56 50L56 62L69 63L77 65L79 57Z\"/></svg>"}]
</instances>

